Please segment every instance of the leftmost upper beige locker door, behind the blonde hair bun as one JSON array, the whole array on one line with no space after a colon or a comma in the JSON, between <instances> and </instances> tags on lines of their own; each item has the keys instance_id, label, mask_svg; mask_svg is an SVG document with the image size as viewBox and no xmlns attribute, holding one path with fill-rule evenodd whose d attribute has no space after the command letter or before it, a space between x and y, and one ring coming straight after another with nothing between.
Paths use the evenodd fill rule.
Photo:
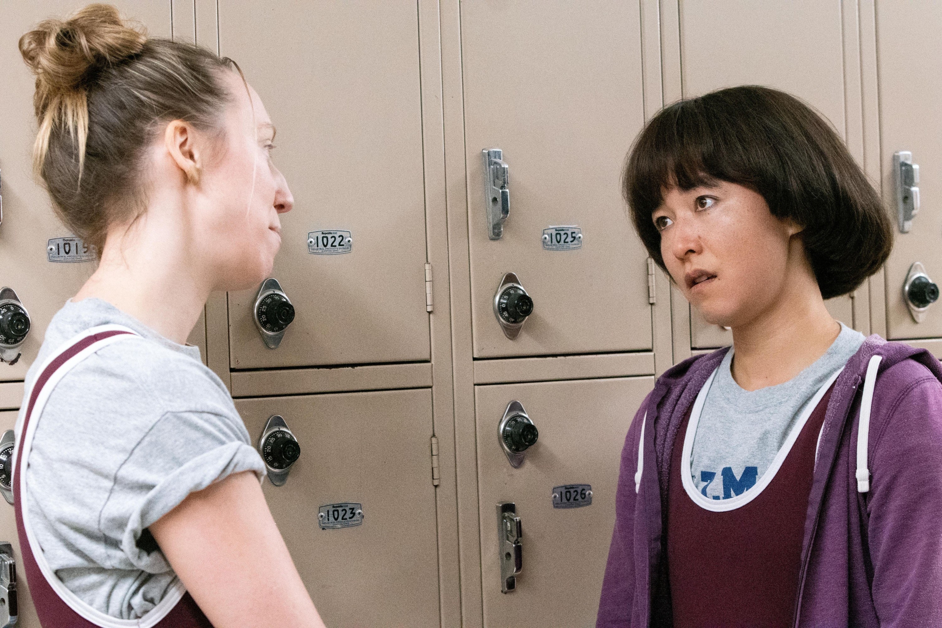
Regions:
<instances>
[{"instance_id":1,"label":"leftmost upper beige locker door, behind the blonde hair bun","mask_svg":"<svg viewBox=\"0 0 942 628\"><path fill-rule=\"evenodd\" d=\"M122 14L145 24L154 37L171 36L171 6L166 0L118 0ZM0 287L16 291L31 319L23 355L10 366L0 363L0 381L23 379L42 345L53 314L88 280L94 262L53 263L46 247L50 240L73 233L53 215L49 196L33 179L33 113L35 79L17 49L26 31L50 17L65 17L84 4L67 0L5 2L0 19L0 86L3 89L3 128L0 131ZM65 253L60 243L59 251ZM74 259L72 241L67 243ZM59 259L64 258L59 255Z\"/></svg>"}]
</instances>

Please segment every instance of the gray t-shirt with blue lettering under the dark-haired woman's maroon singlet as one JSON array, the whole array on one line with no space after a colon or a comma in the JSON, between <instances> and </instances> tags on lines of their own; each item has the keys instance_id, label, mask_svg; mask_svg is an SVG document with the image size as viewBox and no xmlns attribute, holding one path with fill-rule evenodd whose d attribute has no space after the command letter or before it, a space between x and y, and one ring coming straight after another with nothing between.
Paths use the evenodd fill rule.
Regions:
<instances>
[{"instance_id":1,"label":"gray t-shirt with blue lettering under the dark-haired woman's maroon singlet","mask_svg":"<svg viewBox=\"0 0 942 628\"><path fill-rule=\"evenodd\" d=\"M722 500L752 489L807 403L863 343L862 333L841 324L834 344L816 362L785 383L756 391L736 383L730 349L707 392L693 438L690 475L697 491Z\"/></svg>"}]
</instances>

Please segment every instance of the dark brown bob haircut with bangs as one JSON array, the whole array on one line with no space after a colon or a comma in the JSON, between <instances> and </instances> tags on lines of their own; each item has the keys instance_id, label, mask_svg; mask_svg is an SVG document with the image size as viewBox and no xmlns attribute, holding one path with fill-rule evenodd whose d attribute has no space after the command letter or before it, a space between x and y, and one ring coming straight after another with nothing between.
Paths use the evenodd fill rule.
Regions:
<instances>
[{"instance_id":1,"label":"dark brown bob haircut with bangs","mask_svg":"<svg viewBox=\"0 0 942 628\"><path fill-rule=\"evenodd\" d=\"M674 186L726 181L762 195L772 216L803 227L821 297L847 294L883 266L893 228L867 176L831 125L777 89L720 89L664 107L625 162L625 201L648 253L665 268L652 214Z\"/></svg>"}]
</instances>

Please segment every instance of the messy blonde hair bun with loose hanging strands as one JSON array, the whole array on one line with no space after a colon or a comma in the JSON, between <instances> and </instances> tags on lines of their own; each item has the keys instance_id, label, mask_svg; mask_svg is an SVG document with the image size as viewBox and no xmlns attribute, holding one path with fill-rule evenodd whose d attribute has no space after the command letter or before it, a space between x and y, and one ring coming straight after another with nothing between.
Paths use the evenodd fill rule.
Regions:
<instances>
[{"instance_id":1,"label":"messy blonde hair bun with loose hanging strands","mask_svg":"<svg viewBox=\"0 0 942 628\"><path fill-rule=\"evenodd\" d=\"M39 171L53 126L77 140L79 169L89 128L87 87L94 70L137 55L147 41L143 28L125 23L111 5L89 5L68 20L46 20L20 38L20 54L36 74L33 106L40 133L33 151Z\"/></svg>"}]
</instances>

